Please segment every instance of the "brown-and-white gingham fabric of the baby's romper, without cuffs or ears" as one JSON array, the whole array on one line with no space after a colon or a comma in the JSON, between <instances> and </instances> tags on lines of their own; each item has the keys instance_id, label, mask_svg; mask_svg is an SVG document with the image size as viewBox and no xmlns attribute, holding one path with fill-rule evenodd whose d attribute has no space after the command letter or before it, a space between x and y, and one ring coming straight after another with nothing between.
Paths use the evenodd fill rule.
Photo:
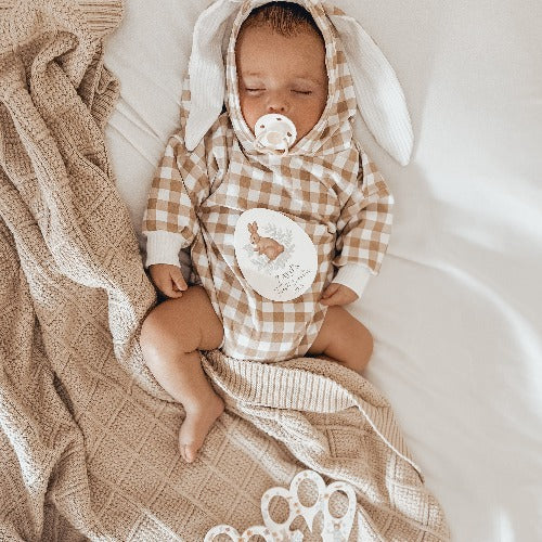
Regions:
<instances>
[{"instance_id":1,"label":"brown-and-white gingham fabric of the baby's romper, without cuffs or ears","mask_svg":"<svg viewBox=\"0 0 542 542\"><path fill-rule=\"evenodd\" d=\"M376 274L391 225L392 196L352 136L356 98L340 43L320 5L307 2L326 44L328 100L321 119L287 156L261 154L241 114L235 40L253 8L245 2L234 21L227 53L227 113L189 153L183 129L190 108L188 82L181 128L171 137L149 196L143 231L169 232L192 245L195 279L224 327L223 351L237 359L284 360L307 352L326 308L319 302L345 263ZM318 250L312 286L292 301L257 294L236 262L233 233L247 209L281 211L311 237ZM151 243L149 243L149 246Z\"/></svg>"}]
</instances>

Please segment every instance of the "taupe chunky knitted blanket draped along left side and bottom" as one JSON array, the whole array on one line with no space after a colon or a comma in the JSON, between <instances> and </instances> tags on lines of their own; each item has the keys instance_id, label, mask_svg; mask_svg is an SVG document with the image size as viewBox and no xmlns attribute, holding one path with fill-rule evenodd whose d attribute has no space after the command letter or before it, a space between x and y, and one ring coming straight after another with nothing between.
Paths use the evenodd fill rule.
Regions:
<instances>
[{"instance_id":1,"label":"taupe chunky knitted blanket draped along left side and bottom","mask_svg":"<svg viewBox=\"0 0 542 542\"><path fill-rule=\"evenodd\" d=\"M352 540L448 540L388 402L330 362L207 352L227 412L196 463L180 459L182 409L142 363L155 293L103 137L121 13L0 0L0 540L242 532L305 468L356 488Z\"/></svg>"}]
</instances>

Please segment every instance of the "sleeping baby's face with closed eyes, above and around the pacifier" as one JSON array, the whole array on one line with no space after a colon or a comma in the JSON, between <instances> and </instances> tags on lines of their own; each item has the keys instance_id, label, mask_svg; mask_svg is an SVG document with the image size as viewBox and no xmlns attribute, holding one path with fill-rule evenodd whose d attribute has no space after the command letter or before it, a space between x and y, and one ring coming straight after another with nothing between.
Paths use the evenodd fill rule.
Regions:
<instances>
[{"instance_id":1,"label":"sleeping baby's face with closed eyes, above and around the pacifier","mask_svg":"<svg viewBox=\"0 0 542 542\"><path fill-rule=\"evenodd\" d=\"M237 38L235 57L241 112L253 133L259 117L281 113L296 125L299 141L327 101L322 38L309 29L286 37L269 26L249 26Z\"/></svg>"}]
</instances>

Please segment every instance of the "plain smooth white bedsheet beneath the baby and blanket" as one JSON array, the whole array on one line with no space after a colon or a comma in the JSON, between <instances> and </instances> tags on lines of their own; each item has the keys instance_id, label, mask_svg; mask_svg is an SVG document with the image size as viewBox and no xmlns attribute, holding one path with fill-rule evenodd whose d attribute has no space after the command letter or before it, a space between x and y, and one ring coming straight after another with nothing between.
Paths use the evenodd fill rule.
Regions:
<instances>
[{"instance_id":1,"label":"plain smooth white bedsheet beneath the baby and blanket","mask_svg":"<svg viewBox=\"0 0 542 542\"><path fill-rule=\"evenodd\" d=\"M138 233L209 3L129 0L107 46L107 139ZM352 306L376 339L367 377L454 540L542 540L542 3L336 3L396 68L415 134L402 168L360 127L396 196L380 275Z\"/></svg>"}]
</instances>

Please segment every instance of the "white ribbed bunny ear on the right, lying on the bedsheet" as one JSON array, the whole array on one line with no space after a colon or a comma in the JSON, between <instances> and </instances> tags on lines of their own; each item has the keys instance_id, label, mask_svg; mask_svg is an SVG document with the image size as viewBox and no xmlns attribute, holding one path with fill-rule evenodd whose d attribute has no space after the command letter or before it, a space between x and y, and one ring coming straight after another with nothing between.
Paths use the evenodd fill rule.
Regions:
<instances>
[{"instance_id":1,"label":"white ribbed bunny ear on the right, lying on the bedsheet","mask_svg":"<svg viewBox=\"0 0 542 542\"><path fill-rule=\"evenodd\" d=\"M378 144L405 166L410 162L414 136L393 68L354 18L333 13L328 16L345 49L363 120Z\"/></svg>"}]
</instances>

